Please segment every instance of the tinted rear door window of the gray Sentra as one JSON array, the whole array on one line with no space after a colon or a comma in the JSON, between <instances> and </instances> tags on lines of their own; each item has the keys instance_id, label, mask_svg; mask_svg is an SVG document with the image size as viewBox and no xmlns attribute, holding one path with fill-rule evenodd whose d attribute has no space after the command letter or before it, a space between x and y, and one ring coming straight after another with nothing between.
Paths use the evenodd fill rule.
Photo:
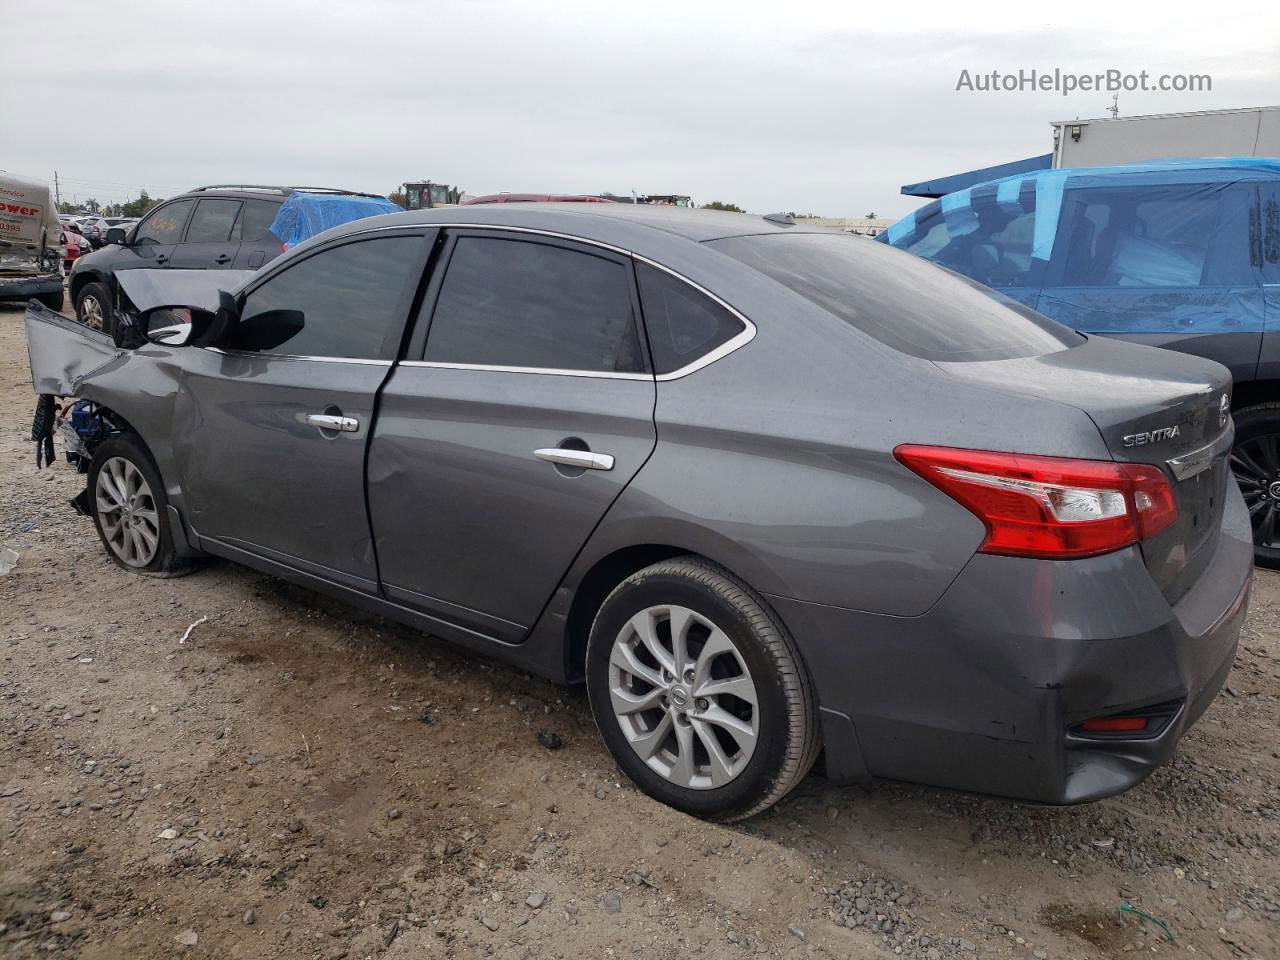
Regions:
<instances>
[{"instance_id":1,"label":"tinted rear door window of the gray Sentra","mask_svg":"<svg viewBox=\"0 0 1280 960\"><path fill-rule=\"evenodd\" d=\"M639 372L628 269L566 247L460 237L431 317L426 360Z\"/></svg>"}]
</instances>

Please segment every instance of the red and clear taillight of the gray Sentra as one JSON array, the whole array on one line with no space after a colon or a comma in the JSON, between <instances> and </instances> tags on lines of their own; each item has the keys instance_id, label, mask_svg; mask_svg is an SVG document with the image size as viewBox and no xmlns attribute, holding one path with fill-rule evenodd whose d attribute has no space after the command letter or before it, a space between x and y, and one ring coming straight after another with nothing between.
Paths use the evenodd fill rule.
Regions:
<instances>
[{"instance_id":1,"label":"red and clear taillight of the gray Sentra","mask_svg":"<svg viewBox=\"0 0 1280 960\"><path fill-rule=\"evenodd\" d=\"M893 456L987 525L980 553L1096 557L1178 518L1165 472L1143 463L911 444Z\"/></svg>"}]
</instances>

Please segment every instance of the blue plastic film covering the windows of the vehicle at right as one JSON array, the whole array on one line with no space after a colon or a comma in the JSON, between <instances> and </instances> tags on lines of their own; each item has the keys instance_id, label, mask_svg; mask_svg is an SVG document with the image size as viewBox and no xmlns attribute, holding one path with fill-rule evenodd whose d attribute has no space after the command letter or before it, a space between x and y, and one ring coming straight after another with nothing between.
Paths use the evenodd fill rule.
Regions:
<instances>
[{"instance_id":1,"label":"blue plastic film covering the windows of the vehicle at right","mask_svg":"<svg viewBox=\"0 0 1280 960\"><path fill-rule=\"evenodd\" d=\"M1066 168L966 186L879 239L1089 333L1280 326L1280 157ZM1268 302L1268 300L1271 302Z\"/></svg>"}]
</instances>

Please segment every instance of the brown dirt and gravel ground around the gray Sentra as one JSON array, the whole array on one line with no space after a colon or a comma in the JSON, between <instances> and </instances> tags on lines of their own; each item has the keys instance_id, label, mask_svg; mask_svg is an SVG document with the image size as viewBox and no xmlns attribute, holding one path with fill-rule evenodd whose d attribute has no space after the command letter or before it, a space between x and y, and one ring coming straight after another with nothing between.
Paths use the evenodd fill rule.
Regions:
<instances>
[{"instance_id":1,"label":"brown dirt and gravel ground around the gray Sentra","mask_svg":"<svg viewBox=\"0 0 1280 960\"><path fill-rule=\"evenodd\" d=\"M580 690L227 563L118 570L68 507L82 479L36 471L33 399L0 307L0 547L20 554L0 956L1280 957L1275 573L1228 691L1124 796L814 774L719 827L621 780Z\"/></svg>"}]
</instances>

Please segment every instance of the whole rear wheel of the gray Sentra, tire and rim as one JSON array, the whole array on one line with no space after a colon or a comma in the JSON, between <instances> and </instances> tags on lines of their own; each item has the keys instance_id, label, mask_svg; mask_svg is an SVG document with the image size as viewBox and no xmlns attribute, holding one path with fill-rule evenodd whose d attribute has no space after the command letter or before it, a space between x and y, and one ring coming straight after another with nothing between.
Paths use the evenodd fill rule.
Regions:
<instances>
[{"instance_id":1,"label":"whole rear wheel of the gray Sentra, tire and rim","mask_svg":"<svg viewBox=\"0 0 1280 960\"><path fill-rule=\"evenodd\" d=\"M786 627L727 571L684 557L604 600L586 652L591 713L652 797L737 820L773 805L818 755L813 686Z\"/></svg>"}]
</instances>

